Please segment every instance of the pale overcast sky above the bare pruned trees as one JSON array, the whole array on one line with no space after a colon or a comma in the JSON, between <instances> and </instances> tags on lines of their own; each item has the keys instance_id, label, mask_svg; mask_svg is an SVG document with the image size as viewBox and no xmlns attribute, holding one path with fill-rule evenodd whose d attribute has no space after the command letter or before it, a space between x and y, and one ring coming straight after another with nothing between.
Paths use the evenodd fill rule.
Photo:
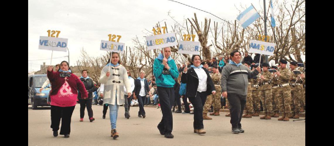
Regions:
<instances>
[{"instance_id":1,"label":"pale overcast sky above the bare pruned trees","mask_svg":"<svg viewBox=\"0 0 334 146\"><path fill-rule=\"evenodd\" d=\"M234 21L239 15L240 4L249 7L251 3L260 11L263 0L175 0L186 5L210 12L222 19ZM266 0L268 9L269 0ZM275 6L274 6L275 7ZM108 40L108 34L121 35L121 43L133 46L132 38L143 36L147 30L151 31L154 24L166 21L167 29L175 22L168 16L174 17L179 23L184 18L197 15L198 21L211 19L219 24L222 20L194 8L168 0L29 0L28 1L28 72L40 70L43 62L50 64L51 52L38 50L39 36L47 36L47 30L61 31L59 38L67 38L70 66L76 65L83 47L89 55L98 57L105 54L100 51L101 40ZM238 22L237 22L238 23ZM147 32L147 31L146 31ZM68 52L53 52L52 65L68 60ZM40 60L40 61L31 61Z\"/></svg>"}]
</instances>

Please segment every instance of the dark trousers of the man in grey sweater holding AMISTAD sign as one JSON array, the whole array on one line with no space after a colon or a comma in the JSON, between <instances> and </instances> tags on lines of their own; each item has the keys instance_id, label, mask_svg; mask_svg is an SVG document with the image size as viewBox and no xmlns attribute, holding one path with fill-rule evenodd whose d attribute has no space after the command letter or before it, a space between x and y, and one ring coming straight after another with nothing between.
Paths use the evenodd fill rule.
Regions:
<instances>
[{"instance_id":1,"label":"dark trousers of the man in grey sweater holding AMISTAD sign","mask_svg":"<svg viewBox=\"0 0 334 146\"><path fill-rule=\"evenodd\" d=\"M243 108L246 105L247 95L239 95L233 93L227 93L227 100L230 104L230 114L232 128L241 128L241 118L243 113Z\"/></svg>"}]
</instances>

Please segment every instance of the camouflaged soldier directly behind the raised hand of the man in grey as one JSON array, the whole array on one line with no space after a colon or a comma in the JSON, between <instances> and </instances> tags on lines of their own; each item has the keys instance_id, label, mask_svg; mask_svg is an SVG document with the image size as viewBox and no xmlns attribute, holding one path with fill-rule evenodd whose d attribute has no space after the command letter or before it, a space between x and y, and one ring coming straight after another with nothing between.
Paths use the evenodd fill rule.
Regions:
<instances>
[{"instance_id":1,"label":"camouflaged soldier directly behind the raised hand of the man in grey","mask_svg":"<svg viewBox=\"0 0 334 146\"><path fill-rule=\"evenodd\" d=\"M262 65L260 65L260 67L262 67ZM256 66L253 65L253 69L255 70ZM259 79L261 74L259 73L258 76L256 78L253 78L252 80L252 87L253 87L253 91L252 91L252 95L253 95L253 104L255 104L255 109L254 109L254 113L252 114L252 116L259 116L260 113L260 101L261 101L261 90L259 89Z\"/></svg>"}]
</instances>

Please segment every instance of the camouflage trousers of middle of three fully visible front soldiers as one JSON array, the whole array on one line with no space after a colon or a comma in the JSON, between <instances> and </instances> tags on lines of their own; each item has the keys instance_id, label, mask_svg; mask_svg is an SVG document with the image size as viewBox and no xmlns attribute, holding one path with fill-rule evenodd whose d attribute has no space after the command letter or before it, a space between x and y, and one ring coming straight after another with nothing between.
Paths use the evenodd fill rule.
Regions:
<instances>
[{"instance_id":1,"label":"camouflage trousers of middle of three fully visible front soldiers","mask_svg":"<svg viewBox=\"0 0 334 146\"><path fill-rule=\"evenodd\" d=\"M278 98L279 98L279 106L281 112L290 113L291 112L291 88L290 85L284 87L278 87Z\"/></svg>"}]
</instances>

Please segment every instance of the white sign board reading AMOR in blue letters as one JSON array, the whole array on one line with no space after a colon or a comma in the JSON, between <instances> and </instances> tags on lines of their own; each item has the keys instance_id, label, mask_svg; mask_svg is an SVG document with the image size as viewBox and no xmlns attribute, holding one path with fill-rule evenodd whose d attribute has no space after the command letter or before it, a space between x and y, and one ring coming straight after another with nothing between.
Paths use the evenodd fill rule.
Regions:
<instances>
[{"instance_id":1,"label":"white sign board reading AMOR in blue letters","mask_svg":"<svg viewBox=\"0 0 334 146\"><path fill-rule=\"evenodd\" d=\"M180 41L178 53L199 55L200 42Z\"/></svg>"}]
</instances>

